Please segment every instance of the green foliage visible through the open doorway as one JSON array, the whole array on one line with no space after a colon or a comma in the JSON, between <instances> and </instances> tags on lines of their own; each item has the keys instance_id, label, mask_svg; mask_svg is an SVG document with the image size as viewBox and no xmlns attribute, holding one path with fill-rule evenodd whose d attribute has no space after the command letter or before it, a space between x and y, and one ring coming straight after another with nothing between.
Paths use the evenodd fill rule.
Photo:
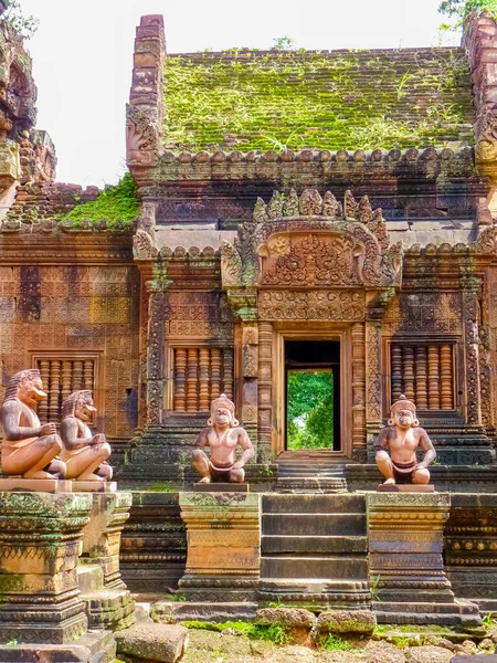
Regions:
<instances>
[{"instance_id":1,"label":"green foliage visible through the open doorway","mask_svg":"<svg viewBox=\"0 0 497 663\"><path fill-rule=\"evenodd\" d=\"M287 373L287 448L332 449L332 372L289 370Z\"/></svg>"}]
</instances>

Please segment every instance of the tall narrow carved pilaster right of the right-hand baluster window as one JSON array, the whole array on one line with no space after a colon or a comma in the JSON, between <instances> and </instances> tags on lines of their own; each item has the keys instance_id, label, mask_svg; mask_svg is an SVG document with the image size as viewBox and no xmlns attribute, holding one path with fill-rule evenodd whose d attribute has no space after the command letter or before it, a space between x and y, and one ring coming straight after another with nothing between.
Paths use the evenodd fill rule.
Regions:
<instances>
[{"instance_id":1,"label":"tall narrow carved pilaster right of the right-hand baluster window","mask_svg":"<svg viewBox=\"0 0 497 663\"><path fill-rule=\"evenodd\" d=\"M479 425L482 423L478 347L478 278L467 277L463 284L466 422L472 425Z\"/></svg>"}]
</instances>

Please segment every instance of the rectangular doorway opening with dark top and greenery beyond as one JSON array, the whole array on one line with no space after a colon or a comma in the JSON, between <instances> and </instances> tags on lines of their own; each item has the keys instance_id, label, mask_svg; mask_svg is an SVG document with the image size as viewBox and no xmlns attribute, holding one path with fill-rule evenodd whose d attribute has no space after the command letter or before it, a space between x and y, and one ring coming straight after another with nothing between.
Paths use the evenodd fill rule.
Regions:
<instances>
[{"instance_id":1,"label":"rectangular doorway opening with dark top and greenery beyond","mask_svg":"<svg viewBox=\"0 0 497 663\"><path fill-rule=\"evenodd\" d=\"M340 343L285 341L288 451L340 451Z\"/></svg>"}]
</instances>

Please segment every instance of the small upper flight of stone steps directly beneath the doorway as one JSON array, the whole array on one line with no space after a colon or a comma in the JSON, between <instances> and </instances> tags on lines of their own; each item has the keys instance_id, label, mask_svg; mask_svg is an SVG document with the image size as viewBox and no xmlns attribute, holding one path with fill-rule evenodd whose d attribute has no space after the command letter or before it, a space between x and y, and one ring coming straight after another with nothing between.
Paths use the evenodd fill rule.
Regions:
<instances>
[{"instance_id":1,"label":"small upper flight of stone steps directly beneath the doorway","mask_svg":"<svg viewBox=\"0 0 497 663\"><path fill-rule=\"evenodd\" d=\"M343 493L350 461L327 450L286 451L277 457L279 493Z\"/></svg>"}]
</instances>

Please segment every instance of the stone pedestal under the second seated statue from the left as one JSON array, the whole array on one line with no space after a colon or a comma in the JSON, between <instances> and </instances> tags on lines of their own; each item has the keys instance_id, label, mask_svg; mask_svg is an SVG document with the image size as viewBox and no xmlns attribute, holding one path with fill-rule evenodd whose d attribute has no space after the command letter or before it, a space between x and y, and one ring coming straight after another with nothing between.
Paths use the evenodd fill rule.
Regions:
<instances>
[{"instance_id":1,"label":"stone pedestal under the second seated statue from the left","mask_svg":"<svg viewBox=\"0 0 497 663\"><path fill-rule=\"evenodd\" d=\"M83 529L80 565L86 570L91 566L97 567L103 575L102 585L97 582L89 590L82 589L82 599L87 604L88 627L126 629L135 623L135 601L120 578L119 547L133 495L93 492L88 496L92 498L92 512L89 523Z\"/></svg>"}]
</instances>

